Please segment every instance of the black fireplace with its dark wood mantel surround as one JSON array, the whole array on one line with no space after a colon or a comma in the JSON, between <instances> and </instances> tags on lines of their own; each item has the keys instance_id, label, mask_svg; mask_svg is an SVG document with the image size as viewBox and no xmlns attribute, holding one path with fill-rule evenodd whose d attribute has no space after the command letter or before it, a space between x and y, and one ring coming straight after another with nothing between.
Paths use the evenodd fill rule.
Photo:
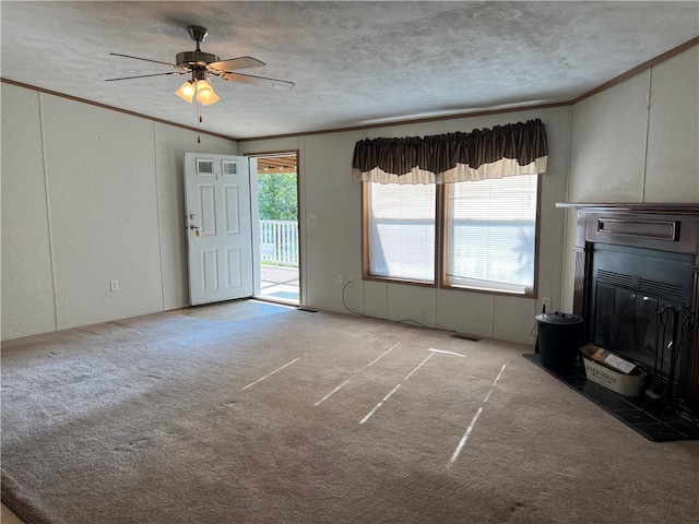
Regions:
<instances>
[{"instance_id":1,"label":"black fireplace with its dark wood mantel surround","mask_svg":"<svg viewBox=\"0 0 699 524\"><path fill-rule=\"evenodd\" d=\"M657 312L698 311L699 205L557 206L578 210L573 313L584 319L584 342L651 372L657 341L666 341L657 333ZM661 364L670 369L668 354ZM697 335L678 355L673 390L699 414Z\"/></svg>"}]
</instances>

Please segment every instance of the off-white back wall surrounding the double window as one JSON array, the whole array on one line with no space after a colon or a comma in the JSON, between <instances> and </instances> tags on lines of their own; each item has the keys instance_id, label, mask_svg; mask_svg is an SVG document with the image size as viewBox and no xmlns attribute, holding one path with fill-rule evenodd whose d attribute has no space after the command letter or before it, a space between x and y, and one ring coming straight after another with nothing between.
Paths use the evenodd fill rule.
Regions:
<instances>
[{"instance_id":1,"label":"off-white back wall surrounding the double window","mask_svg":"<svg viewBox=\"0 0 699 524\"><path fill-rule=\"evenodd\" d=\"M540 297L561 301L560 258L564 248L564 201L568 183L571 109L556 108L460 118L423 124L387 126L369 130L307 135L298 139L240 142L240 153L299 150L301 193L303 288L310 308L346 312L337 275L352 275L355 286L346 289L347 306L363 314L423 324L484 337L532 344L534 317L541 310L535 299L363 282L362 188L352 181L352 155L358 140L376 136L415 136L481 128L541 118L549 146L548 172L543 178ZM318 225L305 224L309 214Z\"/></svg>"}]
</instances>

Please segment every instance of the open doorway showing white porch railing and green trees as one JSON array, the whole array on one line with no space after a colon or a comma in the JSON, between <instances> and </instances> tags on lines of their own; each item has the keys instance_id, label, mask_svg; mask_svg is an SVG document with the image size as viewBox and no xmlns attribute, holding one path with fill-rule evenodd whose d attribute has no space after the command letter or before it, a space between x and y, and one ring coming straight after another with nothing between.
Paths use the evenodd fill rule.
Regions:
<instances>
[{"instance_id":1,"label":"open doorway showing white porch railing and green trees","mask_svg":"<svg viewBox=\"0 0 699 524\"><path fill-rule=\"evenodd\" d=\"M260 294L256 298L301 306L298 152L248 156L258 164Z\"/></svg>"}]
</instances>

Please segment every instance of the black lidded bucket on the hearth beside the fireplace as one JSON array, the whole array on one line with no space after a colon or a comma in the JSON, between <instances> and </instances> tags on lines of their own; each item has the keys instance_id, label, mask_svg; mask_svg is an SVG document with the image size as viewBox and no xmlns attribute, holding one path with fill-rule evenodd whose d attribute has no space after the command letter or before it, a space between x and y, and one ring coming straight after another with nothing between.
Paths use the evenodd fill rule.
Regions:
<instances>
[{"instance_id":1,"label":"black lidded bucket on the hearth beside the fireplace","mask_svg":"<svg viewBox=\"0 0 699 524\"><path fill-rule=\"evenodd\" d=\"M556 311L537 314L536 323L536 348L542 366L552 369L572 368L582 340L582 317Z\"/></svg>"}]
</instances>

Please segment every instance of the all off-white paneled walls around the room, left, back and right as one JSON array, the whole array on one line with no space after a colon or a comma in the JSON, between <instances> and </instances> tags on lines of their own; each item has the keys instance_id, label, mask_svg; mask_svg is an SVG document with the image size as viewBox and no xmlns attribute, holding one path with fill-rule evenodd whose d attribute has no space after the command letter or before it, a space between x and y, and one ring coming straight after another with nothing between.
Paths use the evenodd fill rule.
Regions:
<instances>
[{"instance_id":1,"label":"all off-white paneled walls around the room, left, back and right","mask_svg":"<svg viewBox=\"0 0 699 524\"><path fill-rule=\"evenodd\" d=\"M533 343L540 300L362 282L354 144L541 118L540 297L570 311L574 214L556 202L699 202L698 64L695 47L574 107L239 144L2 84L2 340L186 307L183 152L299 150L309 308L345 311L336 276L352 275L364 314Z\"/></svg>"}]
</instances>

